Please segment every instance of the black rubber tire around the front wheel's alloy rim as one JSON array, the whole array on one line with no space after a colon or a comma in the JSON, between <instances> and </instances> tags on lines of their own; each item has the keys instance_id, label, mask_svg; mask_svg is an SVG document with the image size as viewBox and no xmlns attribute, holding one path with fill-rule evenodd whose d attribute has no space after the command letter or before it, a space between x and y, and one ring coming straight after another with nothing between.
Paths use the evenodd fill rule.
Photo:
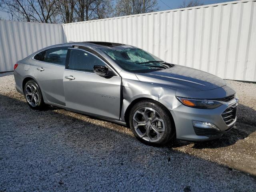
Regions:
<instances>
[{"instance_id":1,"label":"black rubber tire around the front wheel's alloy rim","mask_svg":"<svg viewBox=\"0 0 256 192\"><path fill-rule=\"evenodd\" d=\"M134 129L134 125L133 125L133 117L134 117L134 113L137 110L143 109L143 108L152 108L153 110L155 110L160 117L162 118L163 122L164 122L164 127L165 130L164 132L162 132L162 136L160 137L160 139L158 141L153 141L150 142L148 140L145 140L144 138L141 138L137 132ZM146 110L145 110L146 111ZM138 114L138 113L137 113ZM143 118L142 118L143 119ZM149 118L150 119L150 118ZM150 121L150 120L148 120ZM145 121L146 122L146 121ZM150 123L150 122L149 122ZM171 142L172 140L175 139L176 137L176 130L175 130L175 125L174 125L174 121L172 119L172 116L170 114L170 112L168 111L168 109L166 109L162 104L160 104L159 102L153 101L153 100L143 100L141 102L136 103L130 110L130 115L129 115L129 124L130 124L130 128L134 134L134 136L140 140L142 143L147 144L147 145L151 145L151 146L161 146L164 144L167 144L168 142ZM147 126L148 127L148 126ZM146 126L143 126L143 128L147 129ZM151 127L150 127L151 128ZM138 128L137 128L138 130ZM151 129L152 130L152 129ZM147 138L147 137L146 137ZM149 138L149 137L148 137Z\"/></svg>"}]
</instances>

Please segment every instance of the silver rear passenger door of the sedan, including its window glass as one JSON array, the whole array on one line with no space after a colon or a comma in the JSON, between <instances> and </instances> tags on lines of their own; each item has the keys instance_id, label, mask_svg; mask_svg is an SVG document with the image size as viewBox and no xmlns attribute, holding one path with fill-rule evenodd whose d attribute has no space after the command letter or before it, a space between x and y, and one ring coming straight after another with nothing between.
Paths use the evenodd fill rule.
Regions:
<instances>
[{"instance_id":1,"label":"silver rear passenger door of the sedan, including its window glass","mask_svg":"<svg viewBox=\"0 0 256 192\"><path fill-rule=\"evenodd\" d=\"M63 73L67 46L50 48L34 56L34 74L46 102L65 106Z\"/></svg>"}]
</instances>

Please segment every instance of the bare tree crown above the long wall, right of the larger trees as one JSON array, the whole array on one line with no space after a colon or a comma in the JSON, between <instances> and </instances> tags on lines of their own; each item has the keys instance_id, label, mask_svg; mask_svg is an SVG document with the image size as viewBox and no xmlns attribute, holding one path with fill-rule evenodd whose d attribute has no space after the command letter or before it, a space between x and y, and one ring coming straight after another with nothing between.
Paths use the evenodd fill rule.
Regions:
<instances>
[{"instance_id":1,"label":"bare tree crown above the long wall, right of the larger trees","mask_svg":"<svg viewBox=\"0 0 256 192\"><path fill-rule=\"evenodd\" d=\"M117 0L116 16L154 12L159 10L157 0Z\"/></svg>"}]
</instances>

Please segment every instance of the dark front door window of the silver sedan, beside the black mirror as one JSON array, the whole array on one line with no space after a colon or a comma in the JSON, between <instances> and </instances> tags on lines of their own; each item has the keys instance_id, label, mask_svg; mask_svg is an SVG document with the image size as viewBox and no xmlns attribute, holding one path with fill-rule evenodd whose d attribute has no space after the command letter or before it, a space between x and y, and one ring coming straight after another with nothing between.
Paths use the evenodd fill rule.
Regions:
<instances>
[{"instance_id":1,"label":"dark front door window of the silver sedan, beside the black mirror","mask_svg":"<svg viewBox=\"0 0 256 192\"><path fill-rule=\"evenodd\" d=\"M70 50L69 69L93 72L94 65L106 66L102 60L89 52Z\"/></svg>"}]
</instances>

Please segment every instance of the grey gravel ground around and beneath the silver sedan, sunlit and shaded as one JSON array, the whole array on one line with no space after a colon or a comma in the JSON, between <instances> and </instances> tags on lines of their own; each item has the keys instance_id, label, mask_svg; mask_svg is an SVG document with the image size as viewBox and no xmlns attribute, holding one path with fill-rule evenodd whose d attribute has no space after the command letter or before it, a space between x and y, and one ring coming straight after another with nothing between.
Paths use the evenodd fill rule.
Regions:
<instances>
[{"instance_id":1,"label":"grey gravel ground around and beneath the silver sedan, sunlit and shaded","mask_svg":"<svg viewBox=\"0 0 256 192\"><path fill-rule=\"evenodd\" d=\"M0 192L255 191L256 84L229 82L240 97L233 130L156 148L124 126L55 107L32 110L12 73L0 74Z\"/></svg>"}]
</instances>

